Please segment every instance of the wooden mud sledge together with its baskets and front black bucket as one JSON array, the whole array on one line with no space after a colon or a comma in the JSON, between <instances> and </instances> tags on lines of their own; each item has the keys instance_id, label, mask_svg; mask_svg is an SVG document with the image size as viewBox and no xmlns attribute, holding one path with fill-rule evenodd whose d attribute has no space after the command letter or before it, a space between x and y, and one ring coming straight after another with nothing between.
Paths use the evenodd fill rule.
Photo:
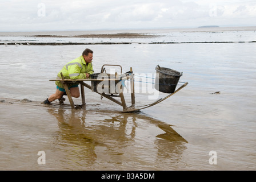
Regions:
<instances>
[{"instance_id":1,"label":"wooden mud sledge together with its baskets and front black bucket","mask_svg":"<svg viewBox=\"0 0 256 182\"><path fill-rule=\"evenodd\" d=\"M121 69L121 73L115 74L106 73L106 67L119 67ZM169 93L166 97L160 98L154 101L151 104L143 105L143 106L135 106L135 90L134 90L134 73L133 69L130 68L130 71L126 73L122 73L121 65L113 65L113 64L104 64L102 65L100 73L94 73L91 75L89 79L64 79L62 75L62 79L55 79L50 81L61 81L66 94L67 98L69 98L69 102L72 109L78 108L85 108L85 89L84 86L90 89L92 92L98 93L101 95L101 98L105 97L110 101L115 102L116 104L122 106L122 112L133 112L138 111L141 109L145 109L147 107L154 106L167 98L173 96L173 94L179 92L179 90L183 89L188 82L181 82L182 85L176 89L179 78L182 76L182 72L175 71L174 69L164 68L164 67L155 67L156 73L155 74L155 89L159 92ZM82 105L74 105L73 99L71 98L69 88L67 84L70 82L78 82L81 85L81 98L82 98ZM86 81L90 81L91 85L85 83ZM131 95L131 106L126 105L125 96L123 94L123 86L125 81L130 81L130 95ZM119 97L119 99L117 99Z\"/></svg>"}]
</instances>

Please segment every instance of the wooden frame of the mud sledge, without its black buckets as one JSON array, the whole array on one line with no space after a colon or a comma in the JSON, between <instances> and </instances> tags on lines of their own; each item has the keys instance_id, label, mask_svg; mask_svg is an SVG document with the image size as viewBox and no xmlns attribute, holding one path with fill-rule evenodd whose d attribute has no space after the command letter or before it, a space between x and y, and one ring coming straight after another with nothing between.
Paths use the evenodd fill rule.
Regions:
<instances>
[{"instance_id":1,"label":"wooden frame of the mud sledge, without its black buckets","mask_svg":"<svg viewBox=\"0 0 256 182\"><path fill-rule=\"evenodd\" d=\"M106 65L121 67L120 65L104 64L102 66L101 73L103 73L103 71L105 70L105 69L103 69L103 67L105 67ZM122 74L122 67L121 67L121 74ZM122 112L124 112L124 113L138 111L138 110L145 109L147 107L151 107L151 106L154 106L156 104L159 104L160 102L162 102L162 101L166 100L167 98L173 96L173 94L177 93L179 90L181 90L182 88L184 88L188 84L188 82L185 82L185 84L180 86L177 90L175 90L175 92L169 94L168 96L166 96L164 98L156 100L156 101L154 101L151 104L135 107L134 74L133 74L133 69L132 68L130 68L129 72L123 74L122 77L118 77L117 73L115 73L115 78L97 78L97 79L89 78L89 79L72 80L72 79L64 79L62 73L61 73L61 76L62 76L62 79L54 79L54 80L50 80L50 81L61 81L61 83L63 84L63 86L65 88L65 91L66 91L66 94L67 94L67 98L69 98L69 102L70 102L70 105L71 105L72 109L76 109L77 106L74 105L74 102L73 102L73 99L72 99L71 94L69 92L69 88L68 88L67 84L70 83L70 82L74 82L75 81L75 82L77 82L78 84L81 85L82 105L79 105L79 107L82 107L82 108L85 107L85 89L84 89L84 86L85 86L86 88L92 90L93 92L100 94L101 97L105 97L105 98L109 99L110 101L113 101L116 104L122 106L123 107ZM126 105L125 97L124 97L122 92L121 93L114 93L114 94L106 94L106 93L99 93L98 90L95 90L95 88L93 88L95 86L95 82L96 82L96 85L97 85L101 81L115 81L115 86L116 86L116 84L118 82L123 81L123 80L130 80L131 106L127 106ZM91 81L91 85L86 84L84 81ZM114 97L120 97L121 101L115 99Z\"/></svg>"}]
</instances>

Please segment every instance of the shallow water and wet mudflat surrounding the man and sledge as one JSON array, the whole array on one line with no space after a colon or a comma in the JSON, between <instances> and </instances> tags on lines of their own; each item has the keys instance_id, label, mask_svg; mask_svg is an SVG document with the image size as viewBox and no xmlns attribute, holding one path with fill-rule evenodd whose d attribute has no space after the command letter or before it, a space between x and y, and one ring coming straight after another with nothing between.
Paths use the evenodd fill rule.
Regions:
<instances>
[{"instance_id":1,"label":"shallow water and wet mudflat surrounding the man and sledge","mask_svg":"<svg viewBox=\"0 0 256 182\"><path fill-rule=\"evenodd\" d=\"M154 36L73 37L122 33ZM71 109L66 96L41 104L86 48L94 73L133 69L135 107L169 95L155 89L158 65L182 72L176 89L188 84L135 113L87 88L86 108ZM0 170L254 171L255 50L256 27L0 32Z\"/></svg>"}]
</instances>

